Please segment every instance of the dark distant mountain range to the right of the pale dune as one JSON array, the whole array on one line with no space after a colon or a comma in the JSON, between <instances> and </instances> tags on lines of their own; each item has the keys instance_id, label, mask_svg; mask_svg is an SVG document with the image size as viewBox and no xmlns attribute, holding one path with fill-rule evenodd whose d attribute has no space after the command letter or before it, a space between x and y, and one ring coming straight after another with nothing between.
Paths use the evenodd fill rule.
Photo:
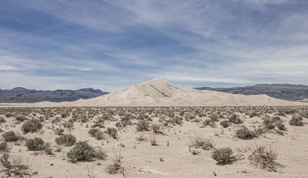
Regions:
<instances>
[{"instance_id":1,"label":"dark distant mountain range to the right of the pale dune","mask_svg":"<svg viewBox=\"0 0 308 178\"><path fill-rule=\"evenodd\" d=\"M297 84L256 84L253 86L230 87L230 88L211 88L197 87L197 90L209 90L216 92L225 92L230 94L242 95L261 95L265 94L273 98L290 100L290 101L305 101L308 99L308 86Z\"/></svg>"}]
</instances>

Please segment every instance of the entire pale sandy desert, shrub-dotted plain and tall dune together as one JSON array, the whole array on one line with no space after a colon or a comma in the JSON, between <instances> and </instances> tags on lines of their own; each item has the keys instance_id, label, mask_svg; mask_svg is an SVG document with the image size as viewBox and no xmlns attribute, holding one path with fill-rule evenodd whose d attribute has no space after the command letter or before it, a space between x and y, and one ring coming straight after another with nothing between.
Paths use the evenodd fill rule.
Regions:
<instances>
[{"instance_id":1,"label":"entire pale sandy desert, shrub-dotted plain and tall dune together","mask_svg":"<svg viewBox=\"0 0 308 178\"><path fill-rule=\"evenodd\" d=\"M307 103L156 78L73 102L1 104L1 174L306 177Z\"/></svg>"}]
</instances>

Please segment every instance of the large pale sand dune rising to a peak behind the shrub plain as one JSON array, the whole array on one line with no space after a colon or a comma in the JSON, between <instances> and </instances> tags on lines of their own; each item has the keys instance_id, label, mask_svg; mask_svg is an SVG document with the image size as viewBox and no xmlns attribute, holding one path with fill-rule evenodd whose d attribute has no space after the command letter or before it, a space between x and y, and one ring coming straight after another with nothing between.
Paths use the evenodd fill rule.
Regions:
<instances>
[{"instance_id":1,"label":"large pale sand dune rising to a peak behind the shrub plain","mask_svg":"<svg viewBox=\"0 0 308 178\"><path fill-rule=\"evenodd\" d=\"M199 91L175 86L162 78L124 88L115 93L74 102L1 104L2 106L293 106L307 105L271 98L267 95L237 95Z\"/></svg>"}]
</instances>

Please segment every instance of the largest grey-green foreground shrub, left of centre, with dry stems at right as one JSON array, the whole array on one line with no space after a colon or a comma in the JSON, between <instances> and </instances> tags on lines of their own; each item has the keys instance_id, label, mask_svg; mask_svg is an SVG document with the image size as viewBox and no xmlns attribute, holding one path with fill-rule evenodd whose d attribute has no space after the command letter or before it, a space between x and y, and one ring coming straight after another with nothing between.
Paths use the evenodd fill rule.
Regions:
<instances>
[{"instance_id":1,"label":"largest grey-green foreground shrub, left of centre, with dry stems at right","mask_svg":"<svg viewBox=\"0 0 308 178\"><path fill-rule=\"evenodd\" d=\"M105 152L99 148L89 145L86 141L78 141L75 146L67 153L70 162L93 161L94 159L104 159Z\"/></svg>"}]
</instances>

